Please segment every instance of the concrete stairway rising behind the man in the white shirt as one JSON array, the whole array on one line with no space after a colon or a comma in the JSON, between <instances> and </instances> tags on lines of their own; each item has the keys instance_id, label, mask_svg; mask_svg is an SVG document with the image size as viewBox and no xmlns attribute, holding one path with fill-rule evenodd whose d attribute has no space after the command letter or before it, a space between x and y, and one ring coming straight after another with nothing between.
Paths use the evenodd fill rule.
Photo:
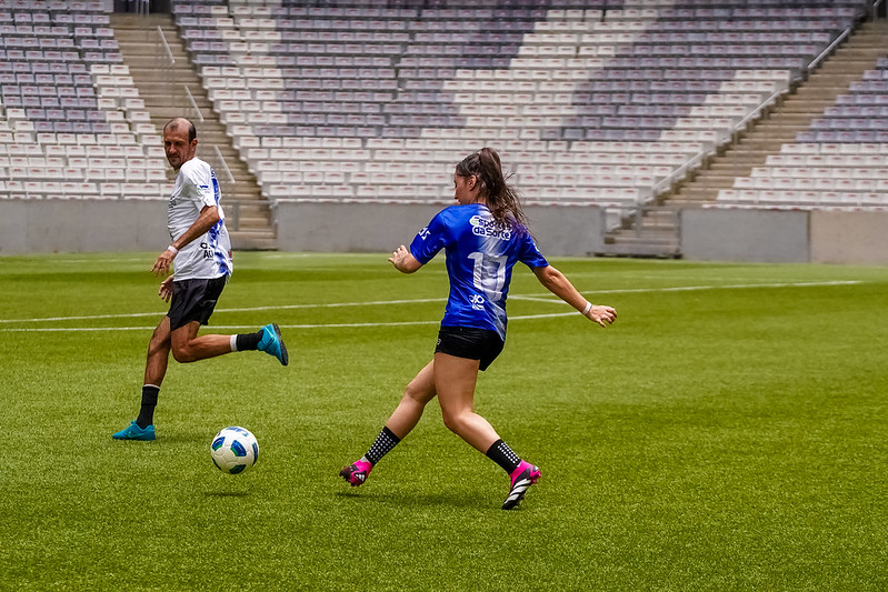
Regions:
<instances>
[{"instance_id":1,"label":"concrete stairway rising behind the man in the white shirt","mask_svg":"<svg viewBox=\"0 0 888 592\"><path fill-rule=\"evenodd\" d=\"M192 119L198 127L198 155L216 170L232 247L239 250L277 249L270 204L261 197L256 177L241 161L218 113L212 110L170 16L116 13L111 16L111 24L123 62L129 67L139 96L144 100L144 109L157 129L162 130L167 121L180 116ZM158 28L163 31L174 63L169 61ZM193 97L199 114L194 112L188 92ZM172 175L169 169L168 174Z\"/></svg>"}]
</instances>

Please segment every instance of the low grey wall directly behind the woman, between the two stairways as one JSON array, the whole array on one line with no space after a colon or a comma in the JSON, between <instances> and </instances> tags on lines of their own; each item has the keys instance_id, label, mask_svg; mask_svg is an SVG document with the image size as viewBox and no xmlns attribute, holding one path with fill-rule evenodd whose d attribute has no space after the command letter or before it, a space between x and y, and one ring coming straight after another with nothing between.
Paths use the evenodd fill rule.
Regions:
<instances>
[{"instance_id":1,"label":"low grey wall directly behind the woman, between the two stairways","mask_svg":"<svg viewBox=\"0 0 888 592\"><path fill-rule=\"evenodd\" d=\"M386 252L409 244L446 205L429 203L277 202L281 251ZM595 207L527 205L530 231L552 257L591 255L603 244L603 212Z\"/></svg>"}]
</instances>

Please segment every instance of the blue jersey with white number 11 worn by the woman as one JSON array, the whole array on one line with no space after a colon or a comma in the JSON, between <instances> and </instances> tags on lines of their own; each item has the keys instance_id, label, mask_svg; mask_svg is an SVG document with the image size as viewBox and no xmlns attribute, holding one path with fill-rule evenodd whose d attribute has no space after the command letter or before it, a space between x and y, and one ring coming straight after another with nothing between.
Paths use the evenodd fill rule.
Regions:
<instances>
[{"instance_id":1,"label":"blue jersey with white number 11 worn by the woman","mask_svg":"<svg viewBox=\"0 0 888 592\"><path fill-rule=\"evenodd\" d=\"M445 249L450 297L441 327L471 327L496 331L506 339L506 295L512 268L549 263L526 230L516 231L493 220L487 205L451 205L431 219L410 243L422 264Z\"/></svg>"}]
</instances>

